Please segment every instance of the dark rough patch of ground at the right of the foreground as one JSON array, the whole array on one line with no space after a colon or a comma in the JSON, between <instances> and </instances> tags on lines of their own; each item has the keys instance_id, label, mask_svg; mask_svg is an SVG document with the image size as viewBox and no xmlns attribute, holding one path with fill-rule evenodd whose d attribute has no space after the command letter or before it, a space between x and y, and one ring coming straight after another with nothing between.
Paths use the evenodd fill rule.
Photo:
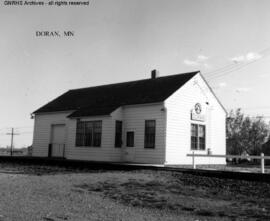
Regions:
<instances>
[{"instance_id":1,"label":"dark rough patch of ground at the right of the foreground","mask_svg":"<svg viewBox=\"0 0 270 221\"><path fill-rule=\"evenodd\" d=\"M270 220L270 185L188 174L163 174L166 180L107 180L74 186L73 191L99 193L116 202L216 219Z\"/></svg>"}]
</instances>

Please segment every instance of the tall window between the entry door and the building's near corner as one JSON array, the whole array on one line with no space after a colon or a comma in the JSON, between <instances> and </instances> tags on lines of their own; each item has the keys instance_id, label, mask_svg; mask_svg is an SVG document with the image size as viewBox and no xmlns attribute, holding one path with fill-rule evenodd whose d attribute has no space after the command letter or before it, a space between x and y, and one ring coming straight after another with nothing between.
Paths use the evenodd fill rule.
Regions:
<instances>
[{"instance_id":1,"label":"tall window between the entry door and the building's near corner","mask_svg":"<svg viewBox=\"0 0 270 221\"><path fill-rule=\"evenodd\" d=\"M144 147L155 148L155 139L156 139L156 121L146 120L144 131Z\"/></svg>"}]
</instances>

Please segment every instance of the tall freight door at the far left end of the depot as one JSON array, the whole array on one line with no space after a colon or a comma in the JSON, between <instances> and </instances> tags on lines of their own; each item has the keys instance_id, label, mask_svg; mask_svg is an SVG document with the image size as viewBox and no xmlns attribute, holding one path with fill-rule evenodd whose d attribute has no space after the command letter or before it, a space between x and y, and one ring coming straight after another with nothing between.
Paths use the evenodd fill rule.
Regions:
<instances>
[{"instance_id":1,"label":"tall freight door at the far left end of the depot","mask_svg":"<svg viewBox=\"0 0 270 221\"><path fill-rule=\"evenodd\" d=\"M64 157L65 124L52 125L52 157Z\"/></svg>"}]
</instances>

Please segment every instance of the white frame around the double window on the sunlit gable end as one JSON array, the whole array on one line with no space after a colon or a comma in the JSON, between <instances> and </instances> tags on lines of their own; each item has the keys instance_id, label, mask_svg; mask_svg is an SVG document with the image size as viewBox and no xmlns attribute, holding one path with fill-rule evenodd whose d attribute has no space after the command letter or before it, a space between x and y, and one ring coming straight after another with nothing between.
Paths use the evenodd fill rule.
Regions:
<instances>
[{"instance_id":1,"label":"white frame around the double window on the sunlit gable end","mask_svg":"<svg viewBox=\"0 0 270 221\"><path fill-rule=\"evenodd\" d=\"M194 127L196 136L194 134ZM203 129L203 136L200 136L200 129ZM194 139L195 138L195 139ZM195 142L194 142L195 140ZM195 145L194 145L195 144ZM201 148L201 144L203 144ZM194 148L196 146L196 148ZM206 125L205 124L198 124L195 122L191 122L190 128L190 149L192 151L205 151L206 150Z\"/></svg>"}]
</instances>

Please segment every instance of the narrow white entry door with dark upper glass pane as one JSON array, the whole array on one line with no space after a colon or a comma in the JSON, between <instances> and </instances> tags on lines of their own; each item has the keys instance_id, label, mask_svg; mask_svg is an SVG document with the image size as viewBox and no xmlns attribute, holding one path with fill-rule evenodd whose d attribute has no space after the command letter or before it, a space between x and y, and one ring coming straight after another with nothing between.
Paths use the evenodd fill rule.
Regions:
<instances>
[{"instance_id":1,"label":"narrow white entry door with dark upper glass pane","mask_svg":"<svg viewBox=\"0 0 270 221\"><path fill-rule=\"evenodd\" d=\"M126 130L125 132L125 145L123 160L125 162L133 162L135 158L135 131Z\"/></svg>"}]
</instances>

